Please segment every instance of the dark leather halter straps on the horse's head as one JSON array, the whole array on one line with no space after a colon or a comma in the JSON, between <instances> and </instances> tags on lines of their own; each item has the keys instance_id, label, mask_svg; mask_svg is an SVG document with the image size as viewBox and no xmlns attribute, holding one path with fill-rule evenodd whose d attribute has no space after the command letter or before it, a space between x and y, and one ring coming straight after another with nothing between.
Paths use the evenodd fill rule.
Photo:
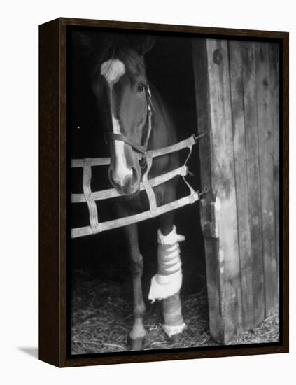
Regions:
<instances>
[{"instance_id":1,"label":"dark leather halter straps on the horse's head","mask_svg":"<svg viewBox=\"0 0 296 385\"><path fill-rule=\"evenodd\" d=\"M114 132L107 132L105 134L105 139L106 141L114 140L114 141L123 141L125 144L128 144L131 146L134 151L137 153L140 153L142 155L142 159L146 159L147 155L147 148L148 148L148 141L150 138L150 133L151 133L151 128L152 128L152 123L151 123L151 118L152 118L152 102L151 102L151 92L150 92L150 87L148 84L143 84L145 93L146 93L146 99L147 99L147 118L146 118L146 125L148 125L148 130L146 134L146 139L143 144L137 144L133 139L126 137L124 134L115 134Z\"/></svg>"}]
</instances>

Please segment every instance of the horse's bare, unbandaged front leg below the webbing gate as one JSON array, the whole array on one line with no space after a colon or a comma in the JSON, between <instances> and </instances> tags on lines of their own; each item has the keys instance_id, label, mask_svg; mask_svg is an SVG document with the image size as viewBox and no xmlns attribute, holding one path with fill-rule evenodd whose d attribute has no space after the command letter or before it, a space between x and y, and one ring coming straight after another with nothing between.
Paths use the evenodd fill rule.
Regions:
<instances>
[{"instance_id":1,"label":"horse's bare, unbandaged front leg below the webbing gate","mask_svg":"<svg viewBox=\"0 0 296 385\"><path fill-rule=\"evenodd\" d=\"M143 257L139 250L138 226L129 225L125 228L127 247L131 257L132 284L134 292L134 325L129 332L129 344L132 350L143 349L146 330L143 325L145 304L142 291Z\"/></svg>"}]
</instances>

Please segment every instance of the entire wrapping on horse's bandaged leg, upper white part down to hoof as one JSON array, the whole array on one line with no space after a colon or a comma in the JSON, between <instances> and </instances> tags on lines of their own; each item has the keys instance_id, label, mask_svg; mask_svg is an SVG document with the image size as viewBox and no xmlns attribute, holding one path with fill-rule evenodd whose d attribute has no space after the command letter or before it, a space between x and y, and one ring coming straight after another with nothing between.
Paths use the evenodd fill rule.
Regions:
<instances>
[{"instance_id":1,"label":"entire wrapping on horse's bandaged leg, upper white part down to hoof","mask_svg":"<svg viewBox=\"0 0 296 385\"><path fill-rule=\"evenodd\" d=\"M165 236L158 230L158 272L151 280L148 298L153 301L163 300L163 328L169 337L181 333L185 328L179 296L182 269L178 244L184 239L183 235L176 233L175 226L169 235Z\"/></svg>"}]
</instances>

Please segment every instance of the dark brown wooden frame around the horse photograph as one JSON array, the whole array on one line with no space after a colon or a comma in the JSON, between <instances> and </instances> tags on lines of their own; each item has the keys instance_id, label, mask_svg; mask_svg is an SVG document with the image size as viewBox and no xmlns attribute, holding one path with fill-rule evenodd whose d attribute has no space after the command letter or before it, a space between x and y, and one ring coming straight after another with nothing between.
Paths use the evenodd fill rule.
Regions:
<instances>
[{"instance_id":1,"label":"dark brown wooden frame around the horse photograph","mask_svg":"<svg viewBox=\"0 0 296 385\"><path fill-rule=\"evenodd\" d=\"M67 29L97 27L106 31L166 33L183 36L276 41L280 45L280 328L278 344L209 346L170 351L127 351L94 356L69 355L69 309L67 307L67 243L69 207L67 170ZM39 358L57 367L137 363L288 352L288 48L287 32L188 27L106 20L59 18L39 27ZM68 293L69 295L69 293Z\"/></svg>"}]
</instances>

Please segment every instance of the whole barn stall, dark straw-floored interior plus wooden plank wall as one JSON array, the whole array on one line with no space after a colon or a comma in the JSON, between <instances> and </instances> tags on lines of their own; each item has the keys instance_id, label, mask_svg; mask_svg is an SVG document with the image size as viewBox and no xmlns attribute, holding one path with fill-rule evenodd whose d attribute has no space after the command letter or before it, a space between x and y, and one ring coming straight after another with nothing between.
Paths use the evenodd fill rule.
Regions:
<instances>
[{"instance_id":1,"label":"whole barn stall, dark straw-floored interior plus wooden plank wall","mask_svg":"<svg viewBox=\"0 0 296 385\"><path fill-rule=\"evenodd\" d=\"M227 344L279 309L278 47L168 39L159 38L146 58L148 77L174 111L179 139L206 131L189 167L195 174L190 183L197 190L207 186L209 193L200 202L200 214L197 204L176 211L178 231L188 239L181 246L183 312L185 320L190 320L188 330L183 340L172 346L160 327L160 309L148 304L147 349ZM177 58L176 50L180 52ZM106 156L94 99L82 76L87 73L87 60L77 51L71 52L71 76L76 79L71 92L73 157L97 156L98 151L99 156ZM94 190L106 188L104 171L105 177L97 171ZM72 191L80 192L82 175L76 172ZM184 191L181 185L180 196ZM80 205L75 210L73 227L87 224L87 207ZM98 210L100 218L108 220L112 202L109 206L104 202ZM157 221L140 227L147 292L157 269ZM132 287L125 247L114 239L120 239L120 230L72 240L73 353L95 353L98 346L99 351L125 349L126 325L132 318ZM124 300L122 288L127 294ZM108 338L111 328L114 334L116 317L121 331L112 341ZM269 340L262 338L261 342Z\"/></svg>"}]
</instances>

